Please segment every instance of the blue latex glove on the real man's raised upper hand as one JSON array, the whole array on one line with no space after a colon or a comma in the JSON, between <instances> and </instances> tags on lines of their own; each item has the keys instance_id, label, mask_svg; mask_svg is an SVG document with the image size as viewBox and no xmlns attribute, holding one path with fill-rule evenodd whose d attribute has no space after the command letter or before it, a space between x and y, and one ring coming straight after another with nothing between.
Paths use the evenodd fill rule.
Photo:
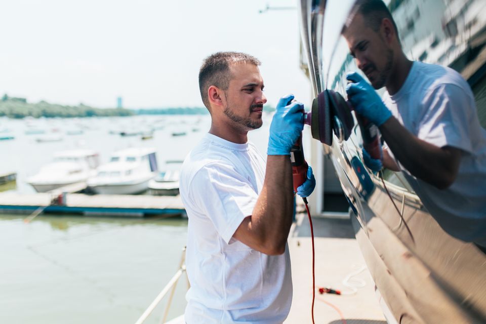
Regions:
<instances>
[{"instance_id":1,"label":"blue latex glove on the real man's raised upper hand","mask_svg":"<svg viewBox=\"0 0 486 324\"><path fill-rule=\"evenodd\" d=\"M290 155L290 149L304 129L304 105L291 102L294 95L280 98L277 103L268 138L268 155Z\"/></svg>"}]
</instances>

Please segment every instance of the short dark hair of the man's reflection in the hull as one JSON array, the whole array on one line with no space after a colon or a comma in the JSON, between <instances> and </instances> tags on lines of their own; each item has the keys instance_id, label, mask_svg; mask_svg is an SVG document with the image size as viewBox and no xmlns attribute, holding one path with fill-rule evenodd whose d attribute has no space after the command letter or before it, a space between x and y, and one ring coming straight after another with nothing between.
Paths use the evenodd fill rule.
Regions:
<instances>
[{"instance_id":1,"label":"short dark hair of the man's reflection in the hull","mask_svg":"<svg viewBox=\"0 0 486 324\"><path fill-rule=\"evenodd\" d=\"M354 4L354 10L352 10L352 13L362 15L365 18L367 26L369 26L375 32L380 30L383 19L388 18L393 24L396 38L398 39L398 42L400 42L395 20L388 10L388 7L382 0L357 0Z\"/></svg>"}]
</instances>

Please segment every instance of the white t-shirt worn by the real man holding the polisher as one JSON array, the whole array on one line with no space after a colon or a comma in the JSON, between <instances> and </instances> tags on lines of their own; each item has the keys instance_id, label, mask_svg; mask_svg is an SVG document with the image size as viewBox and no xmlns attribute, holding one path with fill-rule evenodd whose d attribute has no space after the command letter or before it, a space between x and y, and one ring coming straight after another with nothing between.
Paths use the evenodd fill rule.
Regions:
<instances>
[{"instance_id":1,"label":"white t-shirt worn by the real man holding the polisher","mask_svg":"<svg viewBox=\"0 0 486 324\"><path fill-rule=\"evenodd\" d=\"M252 215L265 177L252 143L206 134L189 153L180 177L189 218L185 321L281 323L292 302L289 249L268 256L232 236Z\"/></svg>"}]
</instances>

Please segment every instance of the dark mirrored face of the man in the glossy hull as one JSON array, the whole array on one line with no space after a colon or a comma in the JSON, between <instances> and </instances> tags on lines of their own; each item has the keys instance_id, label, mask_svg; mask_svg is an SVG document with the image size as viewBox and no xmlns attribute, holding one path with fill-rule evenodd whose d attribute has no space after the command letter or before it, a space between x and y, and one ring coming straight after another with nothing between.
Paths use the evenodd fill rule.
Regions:
<instances>
[{"instance_id":1,"label":"dark mirrored face of the man in the glossy hull","mask_svg":"<svg viewBox=\"0 0 486 324\"><path fill-rule=\"evenodd\" d=\"M383 88L393 66L393 50L380 31L367 26L363 16L357 14L344 32L344 38L356 65L366 74L373 88Z\"/></svg>"}]
</instances>

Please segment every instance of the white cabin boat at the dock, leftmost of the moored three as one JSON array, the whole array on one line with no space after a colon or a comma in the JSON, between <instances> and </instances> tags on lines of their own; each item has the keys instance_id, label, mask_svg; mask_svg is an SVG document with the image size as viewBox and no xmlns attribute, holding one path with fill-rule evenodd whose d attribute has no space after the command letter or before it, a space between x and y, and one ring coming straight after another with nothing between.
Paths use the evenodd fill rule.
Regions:
<instances>
[{"instance_id":1,"label":"white cabin boat at the dock, leftmost of the moored three","mask_svg":"<svg viewBox=\"0 0 486 324\"><path fill-rule=\"evenodd\" d=\"M54 160L27 182L37 192L46 192L69 184L86 182L96 174L99 156L93 150L68 150L54 154Z\"/></svg>"}]
</instances>

